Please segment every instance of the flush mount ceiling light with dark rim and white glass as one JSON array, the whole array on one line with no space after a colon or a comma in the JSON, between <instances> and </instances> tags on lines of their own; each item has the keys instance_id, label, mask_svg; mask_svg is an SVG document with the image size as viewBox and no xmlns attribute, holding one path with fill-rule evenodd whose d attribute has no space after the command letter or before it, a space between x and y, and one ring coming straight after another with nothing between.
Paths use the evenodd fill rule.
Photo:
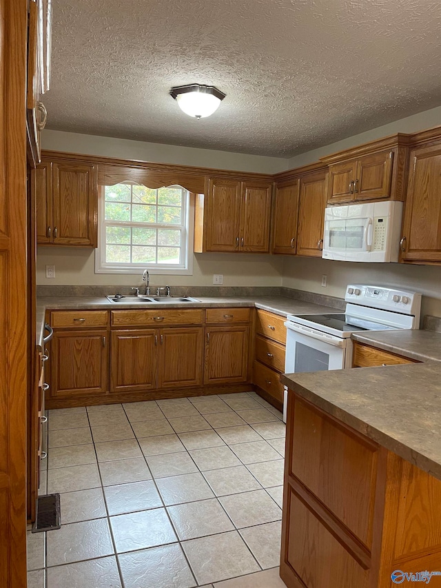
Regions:
<instances>
[{"instance_id":1,"label":"flush mount ceiling light with dark rim and white glass","mask_svg":"<svg viewBox=\"0 0 441 588\"><path fill-rule=\"evenodd\" d=\"M203 119L218 109L226 94L220 92L214 85L192 83L172 88L170 96L174 98L179 108L188 116Z\"/></svg>"}]
</instances>

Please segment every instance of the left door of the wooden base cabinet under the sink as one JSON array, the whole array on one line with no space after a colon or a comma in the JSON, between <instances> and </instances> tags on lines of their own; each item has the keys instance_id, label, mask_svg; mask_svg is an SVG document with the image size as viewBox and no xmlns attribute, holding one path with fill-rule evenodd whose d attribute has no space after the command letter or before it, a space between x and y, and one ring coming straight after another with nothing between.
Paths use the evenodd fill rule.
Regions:
<instances>
[{"instance_id":1,"label":"left door of the wooden base cabinet under the sink","mask_svg":"<svg viewBox=\"0 0 441 588\"><path fill-rule=\"evenodd\" d=\"M156 388L158 331L113 331L110 350L110 392Z\"/></svg>"}]
</instances>

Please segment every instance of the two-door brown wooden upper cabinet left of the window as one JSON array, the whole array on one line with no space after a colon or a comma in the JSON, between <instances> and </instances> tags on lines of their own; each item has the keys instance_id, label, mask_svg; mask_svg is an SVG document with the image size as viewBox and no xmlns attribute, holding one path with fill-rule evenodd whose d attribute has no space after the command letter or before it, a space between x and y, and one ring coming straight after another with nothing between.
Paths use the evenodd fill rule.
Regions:
<instances>
[{"instance_id":1,"label":"two-door brown wooden upper cabinet left of the window","mask_svg":"<svg viewBox=\"0 0 441 588\"><path fill-rule=\"evenodd\" d=\"M37 201L37 243L97 246L96 165L43 161L33 170Z\"/></svg>"}]
</instances>

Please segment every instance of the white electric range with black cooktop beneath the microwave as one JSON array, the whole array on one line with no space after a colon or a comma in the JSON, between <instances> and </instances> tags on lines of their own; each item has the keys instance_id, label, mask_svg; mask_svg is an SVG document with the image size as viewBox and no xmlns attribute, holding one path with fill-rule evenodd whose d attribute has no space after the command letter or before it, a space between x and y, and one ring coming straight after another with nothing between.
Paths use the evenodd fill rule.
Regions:
<instances>
[{"instance_id":1,"label":"white electric range with black cooktop beneath the microwave","mask_svg":"<svg viewBox=\"0 0 441 588\"><path fill-rule=\"evenodd\" d=\"M285 374L351 367L353 332L420 328L421 294L356 284L347 286L345 301L345 312L288 314ZM285 387L285 422L286 410Z\"/></svg>"}]
</instances>

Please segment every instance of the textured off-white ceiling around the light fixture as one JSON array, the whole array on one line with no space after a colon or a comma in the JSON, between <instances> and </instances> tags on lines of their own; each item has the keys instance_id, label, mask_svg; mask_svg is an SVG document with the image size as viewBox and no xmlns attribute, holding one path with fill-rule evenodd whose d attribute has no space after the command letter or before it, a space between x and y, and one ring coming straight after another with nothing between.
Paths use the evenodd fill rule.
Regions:
<instances>
[{"instance_id":1,"label":"textured off-white ceiling around the light fixture","mask_svg":"<svg viewBox=\"0 0 441 588\"><path fill-rule=\"evenodd\" d=\"M440 105L440 38L440 1L56 0L48 128L289 157Z\"/></svg>"}]
</instances>

